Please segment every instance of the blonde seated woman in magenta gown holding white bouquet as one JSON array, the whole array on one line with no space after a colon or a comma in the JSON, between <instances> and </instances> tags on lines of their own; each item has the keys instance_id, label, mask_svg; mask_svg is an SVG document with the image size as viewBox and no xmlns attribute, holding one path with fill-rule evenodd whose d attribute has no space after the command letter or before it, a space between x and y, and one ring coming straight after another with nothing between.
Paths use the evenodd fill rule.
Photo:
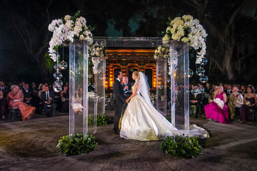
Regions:
<instances>
[{"instance_id":1,"label":"blonde seated woman in magenta gown holding white bouquet","mask_svg":"<svg viewBox=\"0 0 257 171\"><path fill-rule=\"evenodd\" d=\"M208 105L204 106L206 118L217 120L220 123L231 123L229 119L228 107L226 105L226 93L223 92L223 87L218 86L214 92L214 100ZM220 103L216 103L216 100L220 99ZM224 105L224 106L223 106Z\"/></svg>"}]
</instances>

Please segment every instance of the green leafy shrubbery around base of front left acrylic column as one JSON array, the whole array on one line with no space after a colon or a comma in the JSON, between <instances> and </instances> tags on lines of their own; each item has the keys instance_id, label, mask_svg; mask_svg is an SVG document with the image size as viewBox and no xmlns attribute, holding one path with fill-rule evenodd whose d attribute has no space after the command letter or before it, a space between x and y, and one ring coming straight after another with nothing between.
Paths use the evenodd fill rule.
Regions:
<instances>
[{"instance_id":1,"label":"green leafy shrubbery around base of front left acrylic column","mask_svg":"<svg viewBox=\"0 0 257 171\"><path fill-rule=\"evenodd\" d=\"M96 138L92 135L87 134L83 139L83 134L77 133L71 136L70 139L69 135L61 137L57 147L59 152L64 153L65 156L73 156L95 150L98 146L95 140Z\"/></svg>"}]
</instances>

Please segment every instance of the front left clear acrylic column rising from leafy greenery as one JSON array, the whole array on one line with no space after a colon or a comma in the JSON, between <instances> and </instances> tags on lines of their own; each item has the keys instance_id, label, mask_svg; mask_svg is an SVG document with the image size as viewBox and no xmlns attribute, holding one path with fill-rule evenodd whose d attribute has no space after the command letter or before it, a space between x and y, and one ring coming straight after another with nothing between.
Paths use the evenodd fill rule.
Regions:
<instances>
[{"instance_id":1,"label":"front left clear acrylic column rising from leafy greenery","mask_svg":"<svg viewBox=\"0 0 257 171\"><path fill-rule=\"evenodd\" d=\"M83 133L84 137L88 132L88 45L88 40L70 42L69 135Z\"/></svg>"}]
</instances>

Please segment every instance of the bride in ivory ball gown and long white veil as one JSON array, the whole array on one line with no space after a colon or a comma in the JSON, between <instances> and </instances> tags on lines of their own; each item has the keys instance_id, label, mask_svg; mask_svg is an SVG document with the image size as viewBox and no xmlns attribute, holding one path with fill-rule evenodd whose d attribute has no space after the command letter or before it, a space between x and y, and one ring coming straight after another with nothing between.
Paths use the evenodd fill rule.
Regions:
<instances>
[{"instance_id":1,"label":"bride in ivory ball gown and long white veil","mask_svg":"<svg viewBox=\"0 0 257 171\"><path fill-rule=\"evenodd\" d=\"M142 72L134 71L132 95L130 102L120 119L120 136L125 139L140 141L161 140L167 136L181 135L185 131L178 130L165 119L152 105L149 97L149 85ZM140 95L141 93L141 95Z\"/></svg>"}]
</instances>

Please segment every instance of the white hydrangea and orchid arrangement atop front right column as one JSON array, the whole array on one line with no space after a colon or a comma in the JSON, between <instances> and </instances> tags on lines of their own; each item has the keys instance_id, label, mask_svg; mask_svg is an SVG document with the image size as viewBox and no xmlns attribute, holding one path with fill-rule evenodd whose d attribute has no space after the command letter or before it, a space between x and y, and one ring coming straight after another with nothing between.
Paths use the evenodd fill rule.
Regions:
<instances>
[{"instance_id":1,"label":"white hydrangea and orchid arrangement atop front right column","mask_svg":"<svg viewBox=\"0 0 257 171\"><path fill-rule=\"evenodd\" d=\"M208 34L199 24L198 19L194 19L191 15L183 15L181 17L176 17L174 20L170 18L167 24L165 34L162 38L162 43L166 44L168 40L182 40L192 46L195 50L201 48L196 56L196 64L202 62L202 58L206 54L206 44L205 39Z\"/></svg>"}]
</instances>

